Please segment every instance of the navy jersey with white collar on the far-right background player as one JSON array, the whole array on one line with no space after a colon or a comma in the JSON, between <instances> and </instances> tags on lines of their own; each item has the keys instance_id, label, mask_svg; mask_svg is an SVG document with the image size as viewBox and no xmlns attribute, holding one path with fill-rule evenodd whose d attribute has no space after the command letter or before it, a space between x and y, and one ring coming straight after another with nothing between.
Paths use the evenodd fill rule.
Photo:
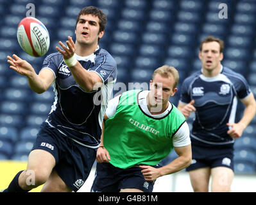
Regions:
<instances>
[{"instance_id":1,"label":"navy jersey with white collar on the far-right background player","mask_svg":"<svg viewBox=\"0 0 256 205\"><path fill-rule=\"evenodd\" d=\"M237 99L250 94L246 79L241 74L221 65L218 76L207 78L201 71L195 72L183 81L180 102L194 99L196 108L191 138L208 145L234 143L228 135L226 123L235 122Z\"/></svg>"}]
</instances>

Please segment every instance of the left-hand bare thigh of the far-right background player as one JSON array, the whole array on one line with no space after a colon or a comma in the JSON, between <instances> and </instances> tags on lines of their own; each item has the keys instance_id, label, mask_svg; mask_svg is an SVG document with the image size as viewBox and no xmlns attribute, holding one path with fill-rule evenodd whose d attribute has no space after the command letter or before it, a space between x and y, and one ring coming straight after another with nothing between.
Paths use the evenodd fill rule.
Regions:
<instances>
[{"instance_id":1,"label":"left-hand bare thigh of the far-right background player","mask_svg":"<svg viewBox=\"0 0 256 205\"><path fill-rule=\"evenodd\" d=\"M209 192L210 167L191 170L189 177L194 192Z\"/></svg>"}]
</instances>

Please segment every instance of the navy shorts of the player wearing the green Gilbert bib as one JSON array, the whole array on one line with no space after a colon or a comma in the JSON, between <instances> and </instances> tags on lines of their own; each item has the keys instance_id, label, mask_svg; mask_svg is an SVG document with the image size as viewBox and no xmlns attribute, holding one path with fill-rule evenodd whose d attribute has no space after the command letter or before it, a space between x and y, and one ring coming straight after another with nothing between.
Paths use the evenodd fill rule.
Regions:
<instances>
[{"instance_id":1,"label":"navy shorts of the player wearing the green Gilbert bib","mask_svg":"<svg viewBox=\"0 0 256 205\"><path fill-rule=\"evenodd\" d=\"M158 168L159 166L152 166ZM120 192L122 188L137 188L152 192L155 181L146 181L139 166L117 168L110 163L97 163L91 192Z\"/></svg>"}]
</instances>

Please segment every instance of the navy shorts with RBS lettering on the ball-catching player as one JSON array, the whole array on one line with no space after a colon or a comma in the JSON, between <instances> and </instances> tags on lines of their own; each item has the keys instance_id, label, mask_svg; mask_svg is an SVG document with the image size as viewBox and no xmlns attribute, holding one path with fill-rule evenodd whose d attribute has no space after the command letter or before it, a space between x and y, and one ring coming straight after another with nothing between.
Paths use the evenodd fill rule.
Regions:
<instances>
[{"instance_id":1,"label":"navy shorts with RBS lettering on the ball-catching player","mask_svg":"<svg viewBox=\"0 0 256 205\"><path fill-rule=\"evenodd\" d=\"M81 188L96 159L96 149L74 142L46 122L40 127L31 151L34 149L45 150L54 156L54 169L74 192Z\"/></svg>"}]
</instances>

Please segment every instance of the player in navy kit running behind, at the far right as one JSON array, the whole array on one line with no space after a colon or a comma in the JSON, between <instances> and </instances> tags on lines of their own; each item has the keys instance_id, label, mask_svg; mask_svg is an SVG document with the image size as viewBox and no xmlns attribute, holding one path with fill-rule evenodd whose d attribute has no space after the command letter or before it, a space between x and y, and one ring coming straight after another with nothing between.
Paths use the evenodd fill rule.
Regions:
<instances>
[{"instance_id":1,"label":"player in navy kit running behind, at the far right","mask_svg":"<svg viewBox=\"0 0 256 205\"><path fill-rule=\"evenodd\" d=\"M224 42L207 37L200 45L202 69L186 78L178 109L185 117L196 112L191 131L192 163L187 170L194 192L229 192L234 177L233 145L256 113L256 103L248 83L221 65ZM245 105L235 123L237 97Z\"/></svg>"}]
</instances>

